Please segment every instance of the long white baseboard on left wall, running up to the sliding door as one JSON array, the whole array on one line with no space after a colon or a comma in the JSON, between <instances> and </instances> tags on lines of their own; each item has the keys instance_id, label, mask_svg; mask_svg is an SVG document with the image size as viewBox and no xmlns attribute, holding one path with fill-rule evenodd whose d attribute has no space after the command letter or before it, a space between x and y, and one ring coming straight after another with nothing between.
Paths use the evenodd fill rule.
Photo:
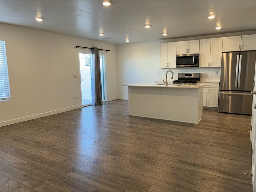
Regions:
<instances>
[{"instance_id":1,"label":"long white baseboard on left wall, running up to the sliding door","mask_svg":"<svg viewBox=\"0 0 256 192\"><path fill-rule=\"evenodd\" d=\"M40 114L36 114L36 115L31 115L31 116L27 116L27 117L22 117L22 118L18 118L18 119L2 121L2 122L0 122L0 127L6 126L6 125L11 125L11 124L14 124L14 123L27 121L27 120L37 119L37 118L45 117L45 116L48 116L48 115L54 115L54 114L57 114L57 113L71 111L71 110L79 109L79 108L82 108L82 105L76 105L76 106L73 106L73 107L58 109L58 110L55 110L55 111L49 111L49 112L40 113Z\"/></svg>"}]
</instances>

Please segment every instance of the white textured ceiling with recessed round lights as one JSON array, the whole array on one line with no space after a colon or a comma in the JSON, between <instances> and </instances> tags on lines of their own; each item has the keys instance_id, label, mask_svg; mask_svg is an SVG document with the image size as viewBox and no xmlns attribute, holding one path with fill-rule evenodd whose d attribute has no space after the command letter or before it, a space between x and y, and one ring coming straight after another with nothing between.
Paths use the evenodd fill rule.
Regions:
<instances>
[{"instance_id":1,"label":"white textured ceiling with recessed round lights","mask_svg":"<svg viewBox=\"0 0 256 192\"><path fill-rule=\"evenodd\" d=\"M0 0L0 22L109 43L256 30L256 0ZM207 16L213 11L216 18ZM44 18L37 22L35 17ZM149 23L151 28L144 25ZM222 28L216 30L220 22ZM168 35L163 36L166 29ZM105 35L99 36L103 32ZM110 39L102 39L110 37Z\"/></svg>"}]
</instances>

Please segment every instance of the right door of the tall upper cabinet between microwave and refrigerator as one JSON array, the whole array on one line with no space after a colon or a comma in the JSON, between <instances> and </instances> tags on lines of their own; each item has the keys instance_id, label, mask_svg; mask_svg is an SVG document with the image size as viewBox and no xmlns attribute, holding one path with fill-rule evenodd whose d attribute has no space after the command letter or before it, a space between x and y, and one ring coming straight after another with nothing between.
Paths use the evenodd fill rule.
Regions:
<instances>
[{"instance_id":1,"label":"right door of the tall upper cabinet between microwave and refrigerator","mask_svg":"<svg viewBox=\"0 0 256 192\"><path fill-rule=\"evenodd\" d=\"M223 40L222 37L211 39L210 67L220 67L221 66L222 40ZM200 58L199 58L199 60L200 60Z\"/></svg>"}]
</instances>

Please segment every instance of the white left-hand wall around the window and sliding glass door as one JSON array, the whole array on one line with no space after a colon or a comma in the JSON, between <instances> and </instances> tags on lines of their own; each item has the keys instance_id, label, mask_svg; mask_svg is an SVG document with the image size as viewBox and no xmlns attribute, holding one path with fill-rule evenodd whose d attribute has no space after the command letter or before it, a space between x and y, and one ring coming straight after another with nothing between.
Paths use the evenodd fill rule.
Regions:
<instances>
[{"instance_id":1,"label":"white left-hand wall around the window and sliding glass door","mask_svg":"<svg viewBox=\"0 0 256 192\"><path fill-rule=\"evenodd\" d=\"M117 97L116 45L9 24L6 39L11 100L0 102L0 126L81 107L79 50L75 45L109 49L107 99ZM74 100L74 96L77 100Z\"/></svg>"}]
</instances>

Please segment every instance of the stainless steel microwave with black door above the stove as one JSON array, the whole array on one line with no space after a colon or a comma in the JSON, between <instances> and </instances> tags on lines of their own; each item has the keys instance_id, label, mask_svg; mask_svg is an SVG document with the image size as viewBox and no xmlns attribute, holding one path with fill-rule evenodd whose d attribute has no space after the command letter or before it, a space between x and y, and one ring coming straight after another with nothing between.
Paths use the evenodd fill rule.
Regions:
<instances>
[{"instance_id":1,"label":"stainless steel microwave with black door above the stove","mask_svg":"<svg viewBox=\"0 0 256 192\"><path fill-rule=\"evenodd\" d=\"M176 67L198 67L199 54L176 55Z\"/></svg>"}]
</instances>

